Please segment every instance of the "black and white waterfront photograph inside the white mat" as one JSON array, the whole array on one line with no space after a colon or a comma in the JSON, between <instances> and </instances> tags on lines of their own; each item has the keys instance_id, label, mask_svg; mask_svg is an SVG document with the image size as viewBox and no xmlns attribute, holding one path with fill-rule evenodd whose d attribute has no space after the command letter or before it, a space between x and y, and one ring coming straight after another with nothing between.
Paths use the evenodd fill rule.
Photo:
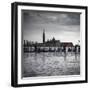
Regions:
<instances>
[{"instance_id":1,"label":"black and white waterfront photograph inside the white mat","mask_svg":"<svg viewBox=\"0 0 90 90\"><path fill-rule=\"evenodd\" d=\"M80 75L80 13L22 10L22 77Z\"/></svg>"}]
</instances>

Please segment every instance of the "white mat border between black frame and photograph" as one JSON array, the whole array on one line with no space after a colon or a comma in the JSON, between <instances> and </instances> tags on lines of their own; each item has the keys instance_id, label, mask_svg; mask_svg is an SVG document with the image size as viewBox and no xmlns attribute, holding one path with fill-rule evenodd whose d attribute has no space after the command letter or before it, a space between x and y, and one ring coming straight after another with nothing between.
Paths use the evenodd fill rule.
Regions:
<instances>
[{"instance_id":1,"label":"white mat border between black frame and photograph","mask_svg":"<svg viewBox=\"0 0 90 90\"><path fill-rule=\"evenodd\" d=\"M81 39L81 58L80 58L80 75L74 76L54 76L54 77L33 77L21 78L21 10L43 10L43 11L60 11L81 13L80 19L80 39ZM18 84L32 83L48 83L48 82L64 82L64 81L80 81L85 80L85 10L70 8L53 8L53 7L37 7L37 6L18 6Z\"/></svg>"}]
</instances>

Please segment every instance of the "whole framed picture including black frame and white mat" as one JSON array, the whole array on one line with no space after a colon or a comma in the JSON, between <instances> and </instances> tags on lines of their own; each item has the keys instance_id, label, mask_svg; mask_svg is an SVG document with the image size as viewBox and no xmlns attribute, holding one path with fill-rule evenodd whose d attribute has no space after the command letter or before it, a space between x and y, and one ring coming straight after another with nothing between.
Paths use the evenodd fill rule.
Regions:
<instances>
[{"instance_id":1,"label":"whole framed picture including black frame and white mat","mask_svg":"<svg viewBox=\"0 0 90 90\"><path fill-rule=\"evenodd\" d=\"M87 7L12 3L13 87L87 82Z\"/></svg>"}]
</instances>

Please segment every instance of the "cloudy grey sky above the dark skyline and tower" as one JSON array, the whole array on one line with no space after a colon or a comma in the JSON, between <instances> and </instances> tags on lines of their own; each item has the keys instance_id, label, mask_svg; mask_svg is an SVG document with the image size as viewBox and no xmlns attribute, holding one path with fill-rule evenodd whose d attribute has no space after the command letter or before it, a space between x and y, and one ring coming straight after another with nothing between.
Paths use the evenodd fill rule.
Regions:
<instances>
[{"instance_id":1,"label":"cloudy grey sky above the dark skyline and tower","mask_svg":"<svg viewBox=\"0 0 90 90\"><path fill-rule=\"evenodd\" d=\"M42 43L52 39L77 44L80 40L80 14L52 11L22 10L23 40Z\"/></svg>"}]
</instances>

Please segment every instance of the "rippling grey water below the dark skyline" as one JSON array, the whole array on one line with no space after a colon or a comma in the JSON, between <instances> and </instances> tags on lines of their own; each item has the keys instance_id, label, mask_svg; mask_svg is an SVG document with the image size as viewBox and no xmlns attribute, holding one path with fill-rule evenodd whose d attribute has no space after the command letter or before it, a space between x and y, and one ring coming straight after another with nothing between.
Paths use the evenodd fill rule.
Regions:
<instances>
[{"instance_id":1,"label":"rippling grey water below the dark skyline","mask_svg":"<svg viewBox=\"0 0 90 90\"><path fill-rule=\"evenodd\" d=\"M23 77L80 75L80 54L24 53Z\"/></svg>"}]
</instances>

